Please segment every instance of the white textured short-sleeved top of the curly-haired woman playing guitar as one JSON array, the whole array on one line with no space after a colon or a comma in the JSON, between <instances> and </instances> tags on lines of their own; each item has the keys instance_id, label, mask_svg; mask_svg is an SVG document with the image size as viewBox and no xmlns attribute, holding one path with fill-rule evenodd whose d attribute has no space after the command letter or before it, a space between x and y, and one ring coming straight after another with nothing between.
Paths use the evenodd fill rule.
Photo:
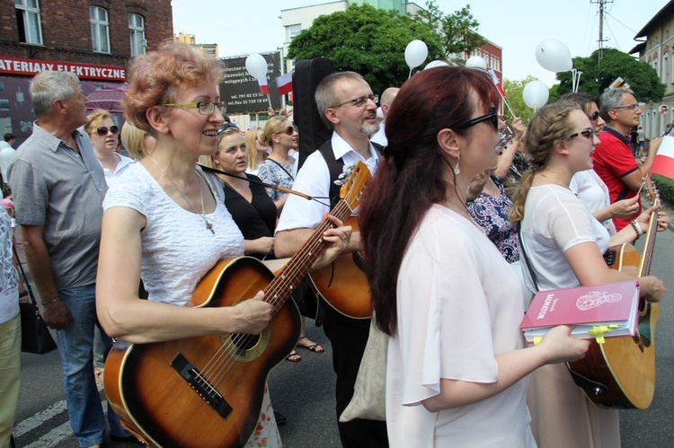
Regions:
<instances>
[{"instance_id":1,"label":"white textured short-sleeved top of the curly-haired woman playing guitar","mask_svg":"<svg viewBox=\"0 0 674 448\"><path fill-rule=\"evenodd\" d=\"M201 215L169 198L141 163L131 164L112 182L103 200L104 210L125 206L146 217L146 228L140 233L141 278L150 300L182 305L219 259L244 255L244 235L226 209L220 180L197 170L216 197L215 212L206 215L215 233L206 228Z\"/></svg>"}]
</instances>

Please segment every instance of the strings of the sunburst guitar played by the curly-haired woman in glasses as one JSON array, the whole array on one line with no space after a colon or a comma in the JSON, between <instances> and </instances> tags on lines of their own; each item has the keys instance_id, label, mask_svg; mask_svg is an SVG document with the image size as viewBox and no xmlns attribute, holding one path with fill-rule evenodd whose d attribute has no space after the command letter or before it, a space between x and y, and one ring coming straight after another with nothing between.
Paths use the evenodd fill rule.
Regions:
<instances>
[{"instance_id":1,"label":"strings of the sunburst guitar played by the curly-haired woman in glasses","mask_svg":"<svg viewBox=\"0 0 674 448\"><path fill-rule=\"evenodd\" d=\"M333 215L337 215L338 217L342 217L343 220L346 219L348 215L350 215L351 209L346 201L341 200L340 203L334 207L331 213ZM282 304L288 300L290 294L292 294L292 290L287 291L286 285L284 285L284 283L297 285L299 281L301 281L302 277L304 277L308 272L308 268L310 267L309 263L313 264L313 261L317 259L317 256L315 256L317 253L316 250L318 250L320 246L324 244L323 233L333 226L334 224L330 221L324 221L324 223L320 224L316 228L312 237L310 237L306 244L297 252L297 258L294 256L293 259L295 260L291 259L288 262L288 268L284 269L279 274L280 276L286 277L285 282L280 280L275 281L275 279L271 280L270 285L268 285L267 291L265 292L265 297L273 297L267 302L271 304L272 313L274 316L279 312ZM310 258L314 256L315 259L312 261ZM232 365L235 365L237 362L235 357L237 356L236 353L239 351L239 347L245 347L248 343L253 341L253 338L260 337L260 335L247 334L238 340L239 346L237 346L234 341L232 341L231 344L222 346L219 344L218 340L219 347L217 349L217 353L212 356L207 365L204 366L204 369L201 372L203 379L200 378L200 381L206 382L208 381L208 378L214 378L212 383L219 383L222 381L224 375L226 375Z\"/></svg>"}]
</instances>

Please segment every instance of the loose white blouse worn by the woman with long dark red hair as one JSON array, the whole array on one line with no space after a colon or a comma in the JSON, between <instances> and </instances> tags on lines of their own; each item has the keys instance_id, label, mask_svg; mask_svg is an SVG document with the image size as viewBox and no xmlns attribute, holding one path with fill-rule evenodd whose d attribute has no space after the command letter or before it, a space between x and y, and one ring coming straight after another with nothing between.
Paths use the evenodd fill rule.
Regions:
<instances>
[{"instance_id":1,"label":"loose white blouse worn by the woman with long dark red hair","mask_svg":"<svg viewBox=\"0 0 674 448\"><path fill-rule=\"evenodd\" d=\"M519 279L483 229L432 206L405 252L397 282L398 333L386 365L392 447L536 446L528 377L470 405L430 413L421 400L440 379L492 383L496 355L524 347Z\"/></svg>"}]
</instances>

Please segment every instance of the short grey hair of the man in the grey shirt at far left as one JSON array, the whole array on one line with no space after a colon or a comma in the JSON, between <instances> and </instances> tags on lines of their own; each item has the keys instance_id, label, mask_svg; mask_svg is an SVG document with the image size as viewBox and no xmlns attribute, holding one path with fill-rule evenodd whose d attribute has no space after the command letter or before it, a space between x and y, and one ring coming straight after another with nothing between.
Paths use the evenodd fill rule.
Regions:
<instances>
[{"instance_id":1,"label":"short grey hair of the man in the grey shirt at far left","mask_svg":"<svg viewBox=\"0 0 674 448\"><path fill-rule=\"evenodd\" d=\"M46 70L35 75L31 81L32 108L35 117L49 117L54 109L54 101L66 101L75 94L73 85L80 80L74 73Z\"/></svg>"}]
</instances>

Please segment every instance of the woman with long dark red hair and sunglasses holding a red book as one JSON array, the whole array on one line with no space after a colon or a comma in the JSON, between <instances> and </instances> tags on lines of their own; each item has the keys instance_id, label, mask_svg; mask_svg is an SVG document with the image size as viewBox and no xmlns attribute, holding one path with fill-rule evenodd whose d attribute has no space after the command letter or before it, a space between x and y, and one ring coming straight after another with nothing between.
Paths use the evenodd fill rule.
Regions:
<instances>
[{"instance_id":1,"label":"woman with long dark red hair and sunglasses holding a red book","mask_svg":"<svg viewBox=\"0 0 674 448\"><path fill-rule=\"evenodd\" d=\"M499 101L482 71L438 67L404 83L386 119L386 161L359 213L390 336L391 446L536 446L527 375L589 346L558 327L524 348L519 281L466 211L468 184L497 163Z\"/></svg>"}]
</instances>

